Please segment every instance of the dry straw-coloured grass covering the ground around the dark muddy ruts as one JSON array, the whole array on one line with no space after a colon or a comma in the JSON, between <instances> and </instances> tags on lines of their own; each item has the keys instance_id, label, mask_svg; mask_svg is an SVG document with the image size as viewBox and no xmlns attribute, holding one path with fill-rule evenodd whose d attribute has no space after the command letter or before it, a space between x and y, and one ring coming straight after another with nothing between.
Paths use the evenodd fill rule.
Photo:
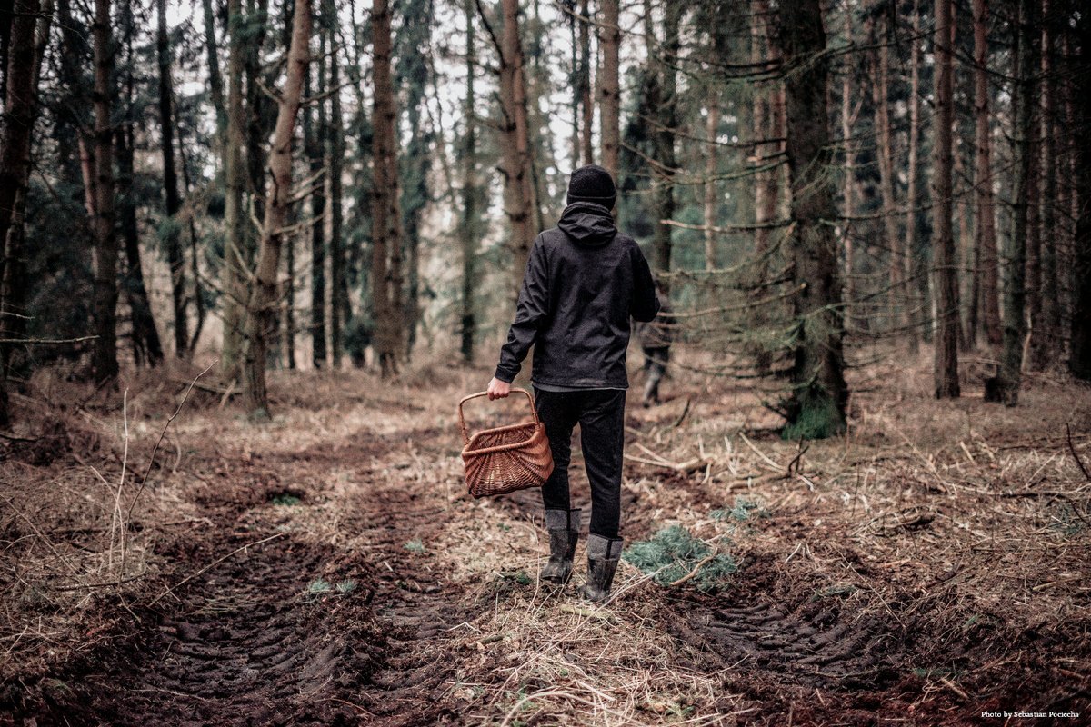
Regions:
<instances>
[{"instance_id":1,"label":"dry straw-coloured grass covering the ground around the dark muddy ruts","mask_svg":"<svg viewBox=\"0 0 1091 727\"><path fill-rule=\"evenodd\" d=\"M923 360L871 365L853 374L849 434L801 445L775 435L776 419L747 387L676 374L663 386L672 400L630 411L624 488L636 505L625 513L626 535L680 524L720 544L740 571L721 596L700 601L688 595L692 583L663 589L623 562L616 597L589 607L572 597L573 586L559 593L537 580L540 522L509 502L465 494L454 405L488 372L434 363L394 385L359 373L275 373L275 421L265 426L221 405L211 381L167 429L152 465L196 373L134 376L122 384L123 399L44 377L35 381L40 396L19 402L26 428L17 434L38 436L58 421L63 437L48 436L64 443L52 461L0 463L4 681L56 673L135 628L130 609L139 615L207 565L166 561L156 546L201 537L201 502L215 501L218 478L239 472L261 493L303 496L300 507L262 516L281 532L345 553L377 547L353 510L369 482L439 504L440 521L421 525L420 557L473 606L443 645L457 664L444 699L470 724L783 716L759 690L727 688L742 678L732 665L670 628L671 613L692 604L763 598L790 611L836 597L861 621L927 633L912 653L923 680L907 698L913 704L940 696L974 704L975 689L1004 683L1024 658L1003 642L1031 632L1064 644L1058 689L1091 680L1091 482L1077 463L1091 467L1091 389L1059 377L1030 378L1022 405L1009 410L982 402L969 381L963 399L934 401ZM475 415L487 426L492 414ZM136 499L145 470L152 483ZM573 482L577 494L586 488L585 478ZM261 493L255 501L264 502ZM714 516L738 498L763 517ZM969 650L972 668L933 670L950 644ZM743 676L765 678L755 674ZM805 701L794 687L778 689Z\"/></svg>"}]
</instances>

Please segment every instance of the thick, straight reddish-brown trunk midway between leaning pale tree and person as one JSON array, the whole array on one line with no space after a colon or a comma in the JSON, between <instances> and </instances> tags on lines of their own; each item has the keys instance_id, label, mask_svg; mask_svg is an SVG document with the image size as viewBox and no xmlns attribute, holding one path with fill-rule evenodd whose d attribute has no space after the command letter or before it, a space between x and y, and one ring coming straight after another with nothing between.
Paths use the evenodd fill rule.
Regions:
<instances>
[{"instance_id":1,"label":"thick, straight reddish-brown trunk midway between leaning pale tree and person","mask_svg":"<svg viewBox=\"0 0 1091 727\"><path fill-rule=\"evenodd\" d=\"M375 0L371 10L375 106L374 193L372 195L371 289L374 296L375 352L383 378L396 376L405 352L401 293L401 211L398 203L397 111L391 77L391 5Z\"/></svg>"}]
</instances>

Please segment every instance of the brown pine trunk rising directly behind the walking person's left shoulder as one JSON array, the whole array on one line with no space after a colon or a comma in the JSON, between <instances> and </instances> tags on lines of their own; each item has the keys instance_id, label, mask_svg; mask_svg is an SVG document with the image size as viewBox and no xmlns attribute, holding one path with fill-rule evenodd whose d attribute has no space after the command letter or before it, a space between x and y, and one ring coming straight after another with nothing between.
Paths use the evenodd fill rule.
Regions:
<instances>
[{"instance_id":1,"label":"brown pine trunk rising directly behind the walking person's left shoulder","mask_svg":"<svg viewBox=\"0 0 1091 727\"><path fill-rule=\"evenodd\" d=\"M512 226L511 255L513 299L518 296L523 274L535 242L533 180L530 168L530 132L527 123L527 86L519 41L517 0L501 0L504 32L500 48L501 150L504 174L504 213Z\"/></svg>"}]
</instances>

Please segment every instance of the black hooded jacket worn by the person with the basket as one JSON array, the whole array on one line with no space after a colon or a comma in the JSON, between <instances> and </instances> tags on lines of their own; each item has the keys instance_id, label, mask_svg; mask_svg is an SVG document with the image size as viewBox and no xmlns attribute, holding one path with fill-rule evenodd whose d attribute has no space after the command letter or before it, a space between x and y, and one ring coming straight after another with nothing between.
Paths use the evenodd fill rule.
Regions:
<instances>
[{"instance_id":1,"label":"black hooded jacket worn by the person with the basket","mask_svg":"<svg viewBox=\"0 0 1091 727\"><path fill-rule=\"evenodd\" d=\"M512 381L533 344L536 385L627 388L630 316L646 322L658 312L648 262L610 210L568 205L535 240L496 378Z\"/></svg>"}]
</instances>

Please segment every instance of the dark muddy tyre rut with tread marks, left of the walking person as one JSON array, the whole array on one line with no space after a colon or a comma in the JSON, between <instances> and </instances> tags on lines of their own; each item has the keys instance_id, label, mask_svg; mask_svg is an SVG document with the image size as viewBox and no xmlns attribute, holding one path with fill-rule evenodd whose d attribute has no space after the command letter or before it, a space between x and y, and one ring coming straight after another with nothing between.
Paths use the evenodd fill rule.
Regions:
<instances>
[{"instance_id":1,"label":"dark muddy tyre rut with tread marks, left of the walking person","mask_svg":"<svg viewBox=\"0 0 1091 727\"><path fill-rule=\"evenodd\" d=\"M349 694L379 647L369 594L349 580L359 569L332 572L331 553L266 537L179 589L177 609L103 655L104 668L79 679L75 703L39 724L356 724ZM216 550L259 540L238 533ZM337 571L341 591L308 587Z\"/></svg>"}]
</instances>

